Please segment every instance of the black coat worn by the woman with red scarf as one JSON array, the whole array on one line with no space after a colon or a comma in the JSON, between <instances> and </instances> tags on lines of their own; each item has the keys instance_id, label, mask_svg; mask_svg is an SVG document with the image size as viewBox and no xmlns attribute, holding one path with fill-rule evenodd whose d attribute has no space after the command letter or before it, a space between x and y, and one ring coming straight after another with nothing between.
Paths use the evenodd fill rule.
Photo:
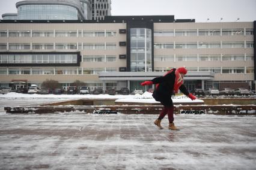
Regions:
<instances>
[{"instance_id":1,"label":"black coat worn by the woman with red scarf","mask_svg":"<svg viewBox=\"0 0 256 170\"><path fill-rule=\"evenodd\" d=\"M161 102L164 106L172 106L171 96L174 94L175 70L176 69L174 68L171 73L151 80L153 81L153 84L159 84L159 86L154 90L152 96L156 101ZM184 84L181 84L179 89L184 93L184 95L189 95Z\"/></svg>"}]
</instances>

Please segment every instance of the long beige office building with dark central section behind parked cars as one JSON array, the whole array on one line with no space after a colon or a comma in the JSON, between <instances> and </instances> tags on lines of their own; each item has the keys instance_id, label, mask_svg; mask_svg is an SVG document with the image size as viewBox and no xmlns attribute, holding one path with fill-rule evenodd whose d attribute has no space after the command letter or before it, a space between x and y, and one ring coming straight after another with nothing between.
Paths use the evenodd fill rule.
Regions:
<instances>
[{"instance_id":1,"label":"long beige office building with dark central section behind parked cars","mask_svg":"<svg viewBox=\"0 0 256 170\"><path fill-rule=\"evenodd\" d=\"M0 86L80 80L95 89L139 85L186 66L189 90L255 88L256 22L196 23L174 16L0 20ZM145 89L146 90L146 89Z\"/></svg>"}]
</instances>

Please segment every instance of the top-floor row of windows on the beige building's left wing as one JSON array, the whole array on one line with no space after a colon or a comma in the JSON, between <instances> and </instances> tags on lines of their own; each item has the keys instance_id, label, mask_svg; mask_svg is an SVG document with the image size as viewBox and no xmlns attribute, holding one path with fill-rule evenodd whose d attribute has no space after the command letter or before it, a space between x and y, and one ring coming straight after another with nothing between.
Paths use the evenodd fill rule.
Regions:
<instances>
[{"instance_id":1,"label":"top-floor row of windows on the beige building's left wing","mask_svg":"<svg viewBox=\"0 0 256 170\"><path fill-rule=\"evenodd\" d=\"M115 37L117 31L0 31L0 37Z\"/></svg>"}]
</instances>

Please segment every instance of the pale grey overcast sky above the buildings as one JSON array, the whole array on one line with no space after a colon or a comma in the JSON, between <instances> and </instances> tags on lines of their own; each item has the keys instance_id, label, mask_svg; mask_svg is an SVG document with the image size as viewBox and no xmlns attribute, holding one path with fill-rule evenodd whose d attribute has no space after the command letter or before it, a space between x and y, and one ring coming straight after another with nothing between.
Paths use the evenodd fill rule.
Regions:
<instances>
[{"instance_id":1,"label":"pale grey overcast sky above the buildings","mask_svg":"<svg viewBox=\"0 0 256 170\"><path fill-rule=\"evenodd\" d=\"M17 13L16 2L0 0L0 16ZM256 20L256 0L112 0L112 16L174 15L175 19L196 22L252 22ZM2 17L0 17L2 18Z\"/></svg>"}]
</instances>

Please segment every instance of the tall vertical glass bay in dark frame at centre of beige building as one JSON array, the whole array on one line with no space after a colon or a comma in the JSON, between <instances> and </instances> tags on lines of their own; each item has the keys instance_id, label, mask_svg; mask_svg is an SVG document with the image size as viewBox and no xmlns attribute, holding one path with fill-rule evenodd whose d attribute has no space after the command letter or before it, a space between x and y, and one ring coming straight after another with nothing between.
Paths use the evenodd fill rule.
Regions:
<instances>
[{"instance_id":1,"label":"tall vertical glass bay in dark frame at centre of beige building","mask_svg":"<svg viewBox=\"0 0 256 170\"><path fill-rule=\"evenodd\" d=\"M152 71L151 29L130 29L130 69L132 72Z\"/></svg>"}]
</instances>

